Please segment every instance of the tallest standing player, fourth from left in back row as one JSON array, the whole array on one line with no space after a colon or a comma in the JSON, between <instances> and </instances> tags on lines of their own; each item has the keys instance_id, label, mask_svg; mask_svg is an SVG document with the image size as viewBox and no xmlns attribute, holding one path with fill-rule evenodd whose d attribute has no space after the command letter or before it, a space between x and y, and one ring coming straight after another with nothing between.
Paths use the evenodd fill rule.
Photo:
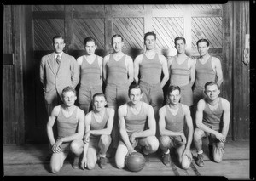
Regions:
<instances>
[{"instance_id":1,"label":"tallest standing player, fourth from left in back row","mask_svg":"<svg viewBox=\"0 0 256 181\"><path fill-rule=\"evenodd\" d=\"M158 110L164 101L163 87L169 79L169 72L166 57L155 51L155 41L156 34L153 31L144 35L146 51L134 60L134 80L143 90L142 100L153 106L154 116L158 122ZM162 73L164 77L161 79ZM158 124L156 136L159 136Z\"/></svg>"}]
</instances>

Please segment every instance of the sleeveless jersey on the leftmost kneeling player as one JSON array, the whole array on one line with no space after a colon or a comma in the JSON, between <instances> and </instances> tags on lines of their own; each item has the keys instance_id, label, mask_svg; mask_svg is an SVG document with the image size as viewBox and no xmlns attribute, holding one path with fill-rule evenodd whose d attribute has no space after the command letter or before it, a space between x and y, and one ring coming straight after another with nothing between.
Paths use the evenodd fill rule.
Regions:
<instances>
[{"instance_id":1,"label":"sleeveless jersey on the leftmost kneeling player","mask_svg":"<svg viewBox=\"0 0 256 181\"><path fill-rule=\"evenodd\" d=\"M78 127L77 110L78 107L75 106L72 115L66 117L62 112L63 108L61 105L60 113L57 116L58 139L68 137L76 133Z\"/></svg>"}]
</instances>

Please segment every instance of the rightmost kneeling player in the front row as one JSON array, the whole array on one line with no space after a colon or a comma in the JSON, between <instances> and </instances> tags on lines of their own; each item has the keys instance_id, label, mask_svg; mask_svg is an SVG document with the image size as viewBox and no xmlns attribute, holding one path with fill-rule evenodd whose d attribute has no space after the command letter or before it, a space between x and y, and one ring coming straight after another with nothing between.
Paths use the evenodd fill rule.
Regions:
<instances>
[{"instance_id":1,"label":"rightmost kneeling player in the front row","mask_svg":"<svg viewBox=\"0 0 256 181\"><path fill-rule=\"evenodd\" d=\"M194 144L197 150L195 163L200 167L204 166L201 139L208 137L209 157L213 156L214 161L220 162L224 155L224 143L230 126L230 102L218 97L220 93L218 83L207 82L205 93L207 97L198 102L195 114L197 126L194 132Z\"/></svg>"}]
</instances>

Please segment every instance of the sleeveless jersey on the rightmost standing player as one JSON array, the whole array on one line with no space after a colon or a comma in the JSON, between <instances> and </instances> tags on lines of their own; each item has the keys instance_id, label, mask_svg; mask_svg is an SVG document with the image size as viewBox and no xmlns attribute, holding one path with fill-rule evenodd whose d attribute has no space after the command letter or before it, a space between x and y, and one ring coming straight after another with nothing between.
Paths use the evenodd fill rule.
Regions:
<instances>
[{"instance_id":1,"label":"sleeveless jersey on the rightmost standing player","mask_svg":"<svg viewBox=\"0 0 256 181\"><path fill-rule=\"evenodd\" d=\"M197 59L195 65L195 87L204 88L205 84L210 81L215 81L216 74L212 69L212 56L207 59L205 64Z\"/></svg>"}]
</instances>

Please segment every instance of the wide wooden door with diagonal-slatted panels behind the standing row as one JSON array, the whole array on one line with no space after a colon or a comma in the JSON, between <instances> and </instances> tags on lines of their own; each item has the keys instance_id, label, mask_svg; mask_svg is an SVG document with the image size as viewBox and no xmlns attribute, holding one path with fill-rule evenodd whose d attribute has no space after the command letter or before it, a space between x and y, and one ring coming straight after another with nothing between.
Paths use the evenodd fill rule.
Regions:
<instances>
[{"instance_id":1,"label":"wide wooden door with diagonal-slatted panels behind the standing row","mask_svg":"<svg viewBox=\"0 0 256 181\"><path fill-rule=\"evenodd\" d=\"M173 40L177 36L186 38L187 54L193 58L199 55L196 41L207 38L211 43L210 54L218 57L223 66L221 96L232 102L232 62L227 44L231 35L230 26L224 25L224 22L230 23L230 18L224 12L226 7L227 4L31 6L32 37L28 41L32 42L35 115L27 123L30 125L27 141L46 143L47 140L47 114L38 73L40 59L52 51L52 37L56 34L66 37L65 51L75 58L84 54L84 37L95 37L98 42L96 54L105 56L111 52L111 37L119 33L124 37L124 52L133 59L142 53L143 35L147 31L157 34L158 50L166 57L176 54ZM231 134L232 131L229 137Z\"/></svg>"}]
</instances>

